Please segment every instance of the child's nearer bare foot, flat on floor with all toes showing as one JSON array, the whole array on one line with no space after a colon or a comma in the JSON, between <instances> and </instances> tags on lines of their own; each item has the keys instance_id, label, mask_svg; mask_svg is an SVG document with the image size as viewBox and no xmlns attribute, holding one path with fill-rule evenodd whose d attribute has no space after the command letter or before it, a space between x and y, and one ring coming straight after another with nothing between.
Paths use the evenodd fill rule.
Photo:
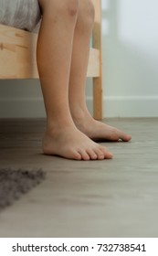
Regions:
<instances>
[{"instance_id":1,"label":"child's nearer bare foot, flat on floor with all toes showing","mask_svg":"<svg viewBox=\"0 0 158 256\"><path fill-rule=\"evenodd\" d=\"M43 139L43 151L46 155L59 155L74 160L111 159L108 150L90 140L76 127L61 127L46 132Z\"/></svg>"}]
</instances>

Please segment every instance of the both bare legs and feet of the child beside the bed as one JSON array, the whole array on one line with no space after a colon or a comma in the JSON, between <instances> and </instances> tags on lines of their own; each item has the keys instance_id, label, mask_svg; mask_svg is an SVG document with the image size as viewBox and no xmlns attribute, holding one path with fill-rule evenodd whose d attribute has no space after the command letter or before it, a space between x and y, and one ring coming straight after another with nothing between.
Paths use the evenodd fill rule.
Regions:
<instances>
[{"instance_id":1,"label":"both bare legs and feet of the child beside the bed","mask_svg":"<svg viewBox=\"0 0 158 256\"><path fill-rule=\"evenodd\" d=\"M128 141L130 137L115 130L113 139L115 128L93 120L86 107L84 91L94 16L91 2L39 0L39 5L43 18L37 66L47 112L43 152L75 160L111 159L112 154L91 139L101 136L116 141L121 137ZM79 48L84 54L80 55ZM90 125L95 126L95 131Z\"/></svg>"}]
</instances>

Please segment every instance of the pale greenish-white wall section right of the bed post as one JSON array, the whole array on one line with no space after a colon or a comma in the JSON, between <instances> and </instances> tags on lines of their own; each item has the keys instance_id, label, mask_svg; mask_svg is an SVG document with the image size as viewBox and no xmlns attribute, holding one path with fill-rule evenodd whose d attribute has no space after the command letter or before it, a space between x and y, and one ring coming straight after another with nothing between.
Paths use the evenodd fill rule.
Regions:
<instances>
[{"instance_id":1,"label":"pale greenish-white wall section right of the bed post","mask_svg":"<svg viewBox=\"0 0 158 256\"><path fill-rule=\"evenodd\" d=\"M158 1L102 0L107 116L158 116Z\"/></svg>"}]
</instances>

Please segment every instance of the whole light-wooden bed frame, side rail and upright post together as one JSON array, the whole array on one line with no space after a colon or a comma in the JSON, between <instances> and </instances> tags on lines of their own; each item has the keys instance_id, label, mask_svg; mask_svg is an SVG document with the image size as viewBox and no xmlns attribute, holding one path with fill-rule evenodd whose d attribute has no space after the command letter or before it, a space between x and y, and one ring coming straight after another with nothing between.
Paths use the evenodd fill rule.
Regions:
<instances>
[{"instance_id":1,"label":"whole light-wooden bed frame, side rail and upright post together","mask_svg":"<svg viewBox=\"0 0 158 256\"><path fill-rule=\"evenodd\" d=\"M93 78L93 116L102 119L101 4L93 0L95 23L87 76ZM0 80L37 79L37 34L0 25Z\"/></svg>"}]
</instances>

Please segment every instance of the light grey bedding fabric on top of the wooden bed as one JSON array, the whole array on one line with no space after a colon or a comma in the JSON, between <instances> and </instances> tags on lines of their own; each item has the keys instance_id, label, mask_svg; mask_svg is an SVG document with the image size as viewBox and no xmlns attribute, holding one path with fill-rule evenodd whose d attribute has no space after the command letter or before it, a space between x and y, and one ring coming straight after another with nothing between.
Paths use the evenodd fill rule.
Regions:
<instances>
[{"instance_id":1,"label":"light grey bedding fabric on top of the wooden bed","mask_svg":"<svg viewBox=\"0 0 158 256\"><path fill-rule=\"evenodd\" d=\"M32 31L40 20L37 0L0 0L0 23Z\"/></svg>"}]
</instances>

